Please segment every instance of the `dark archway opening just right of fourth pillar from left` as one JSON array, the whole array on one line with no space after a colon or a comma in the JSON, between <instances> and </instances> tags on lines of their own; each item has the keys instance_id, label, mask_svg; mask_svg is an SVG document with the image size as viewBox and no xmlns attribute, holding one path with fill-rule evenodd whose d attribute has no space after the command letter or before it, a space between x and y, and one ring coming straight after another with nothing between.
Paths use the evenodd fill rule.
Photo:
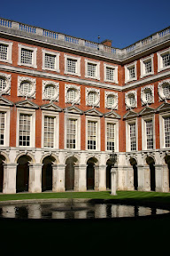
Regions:
<instances>
[{"instance_id":1,"label":"dark archway opening just right of fourth pillar from left","mask_svg":"<svg viewBox=\"0 0 170 256\"><path fill-rule=\"evenodd\" d=\"M87 162L87 189L95 189L95 166L97 165L97 159L95 157L89 158Z\"/></svg>"}]
</instances>

